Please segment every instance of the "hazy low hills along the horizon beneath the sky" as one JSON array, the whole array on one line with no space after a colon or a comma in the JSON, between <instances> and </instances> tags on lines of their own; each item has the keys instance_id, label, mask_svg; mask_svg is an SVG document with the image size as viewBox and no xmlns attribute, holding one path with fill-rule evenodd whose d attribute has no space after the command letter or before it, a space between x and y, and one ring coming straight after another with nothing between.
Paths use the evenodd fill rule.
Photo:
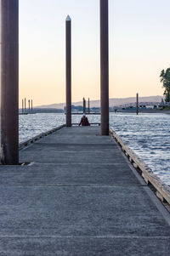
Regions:
<instances>
[{"instance_id":1,"label":"hazy low hills along the horizon beneath the sky","mask_svg":"<svg viewBox=\"0 0 170 256\"><path fill-rule=\"evenodd\" d=\"M139 102L153 102L153 103L160 103L163 96L149 96L149 97L139 97ZM128 105L131 103L136 102L135 97L130 98L113 98L109 100L110 107L118 106L118 105ZM72 105L82 105L82 101L78 102L72 102ZM36 106L36 108L50 108L50 109L63 109L65 106L65 103L59 103L59 104L51 104L51 105L40 105ZM88 102L87 102L88 106ZM100 106L100 100L90 100L90 107L99 107Z\"/></svg>"}]
</instances>

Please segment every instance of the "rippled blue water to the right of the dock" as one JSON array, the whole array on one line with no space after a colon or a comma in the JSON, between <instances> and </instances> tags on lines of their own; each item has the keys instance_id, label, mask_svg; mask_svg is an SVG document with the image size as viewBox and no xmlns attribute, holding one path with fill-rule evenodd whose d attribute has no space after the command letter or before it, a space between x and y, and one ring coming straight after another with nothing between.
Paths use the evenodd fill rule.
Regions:
<instances>
[{"instance_id":1,"label":"rippled blue water to the right of the dock","mask_svg":"<svg viewBox=\"0 0 170 256\"><path fill-rule=\"evenodd\" d=\"M111 127L170 185L170 115L111 115Z\"/></svg>"}]
</instances>

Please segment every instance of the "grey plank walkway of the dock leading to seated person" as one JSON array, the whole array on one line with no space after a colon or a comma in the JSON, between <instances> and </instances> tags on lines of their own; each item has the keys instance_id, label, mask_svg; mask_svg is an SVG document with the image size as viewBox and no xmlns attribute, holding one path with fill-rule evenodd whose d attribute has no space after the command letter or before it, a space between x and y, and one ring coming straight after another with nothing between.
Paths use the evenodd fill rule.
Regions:
<instances>
[{"instance_id":1,"label":"grey plank walkway of the dock leading to seated person","mask_svg":"<svg viewBox=\"0 0 170 256\"><path fill-rule=\"evenodd\" d=\"M170 217L111 136L62 128L0 167L0 255L169 256Z\"/></svg>"}]
</instances>

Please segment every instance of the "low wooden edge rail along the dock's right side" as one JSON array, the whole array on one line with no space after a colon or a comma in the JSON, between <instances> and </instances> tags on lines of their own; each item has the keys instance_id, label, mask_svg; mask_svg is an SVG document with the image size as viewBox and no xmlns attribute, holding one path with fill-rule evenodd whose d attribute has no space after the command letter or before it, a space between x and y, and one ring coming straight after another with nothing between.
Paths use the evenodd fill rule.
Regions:
<instances>
[{"instance_id":1,"label":"low wooden edge rail along the dock's right side","mask_svg":"<svg viewBox=\"0 0 170 256\"><path fill-rule=\"evenodd\" d=\"M124 143L112 128L110 128L110 134L111 137L116 139L116 142L121 146L133 167L139 171L144 181L153 188L161 202L167 202L170 205L170 187L153 173L152 169Z\"/></svg>"}]
</instances>

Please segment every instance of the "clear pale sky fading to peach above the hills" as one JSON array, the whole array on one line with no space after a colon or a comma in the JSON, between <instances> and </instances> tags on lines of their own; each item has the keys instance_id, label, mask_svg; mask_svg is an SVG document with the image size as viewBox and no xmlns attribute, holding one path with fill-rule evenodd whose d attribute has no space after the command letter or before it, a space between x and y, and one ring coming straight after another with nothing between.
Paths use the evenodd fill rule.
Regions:
<instances>
[{"instance_id":1,"label":"clear pale sky fading to peach above the hills","mask_svg":"<svg viewBox=\"0 0 170 256\"><path fill-rule=\"evenodd\" d=\"M161 95L170 66L170 1L110 0L110 98ZM72 101L99 100L99 0L20 0L20 105L65 102L65 18Z\"/></svg>"}]
</instances>

